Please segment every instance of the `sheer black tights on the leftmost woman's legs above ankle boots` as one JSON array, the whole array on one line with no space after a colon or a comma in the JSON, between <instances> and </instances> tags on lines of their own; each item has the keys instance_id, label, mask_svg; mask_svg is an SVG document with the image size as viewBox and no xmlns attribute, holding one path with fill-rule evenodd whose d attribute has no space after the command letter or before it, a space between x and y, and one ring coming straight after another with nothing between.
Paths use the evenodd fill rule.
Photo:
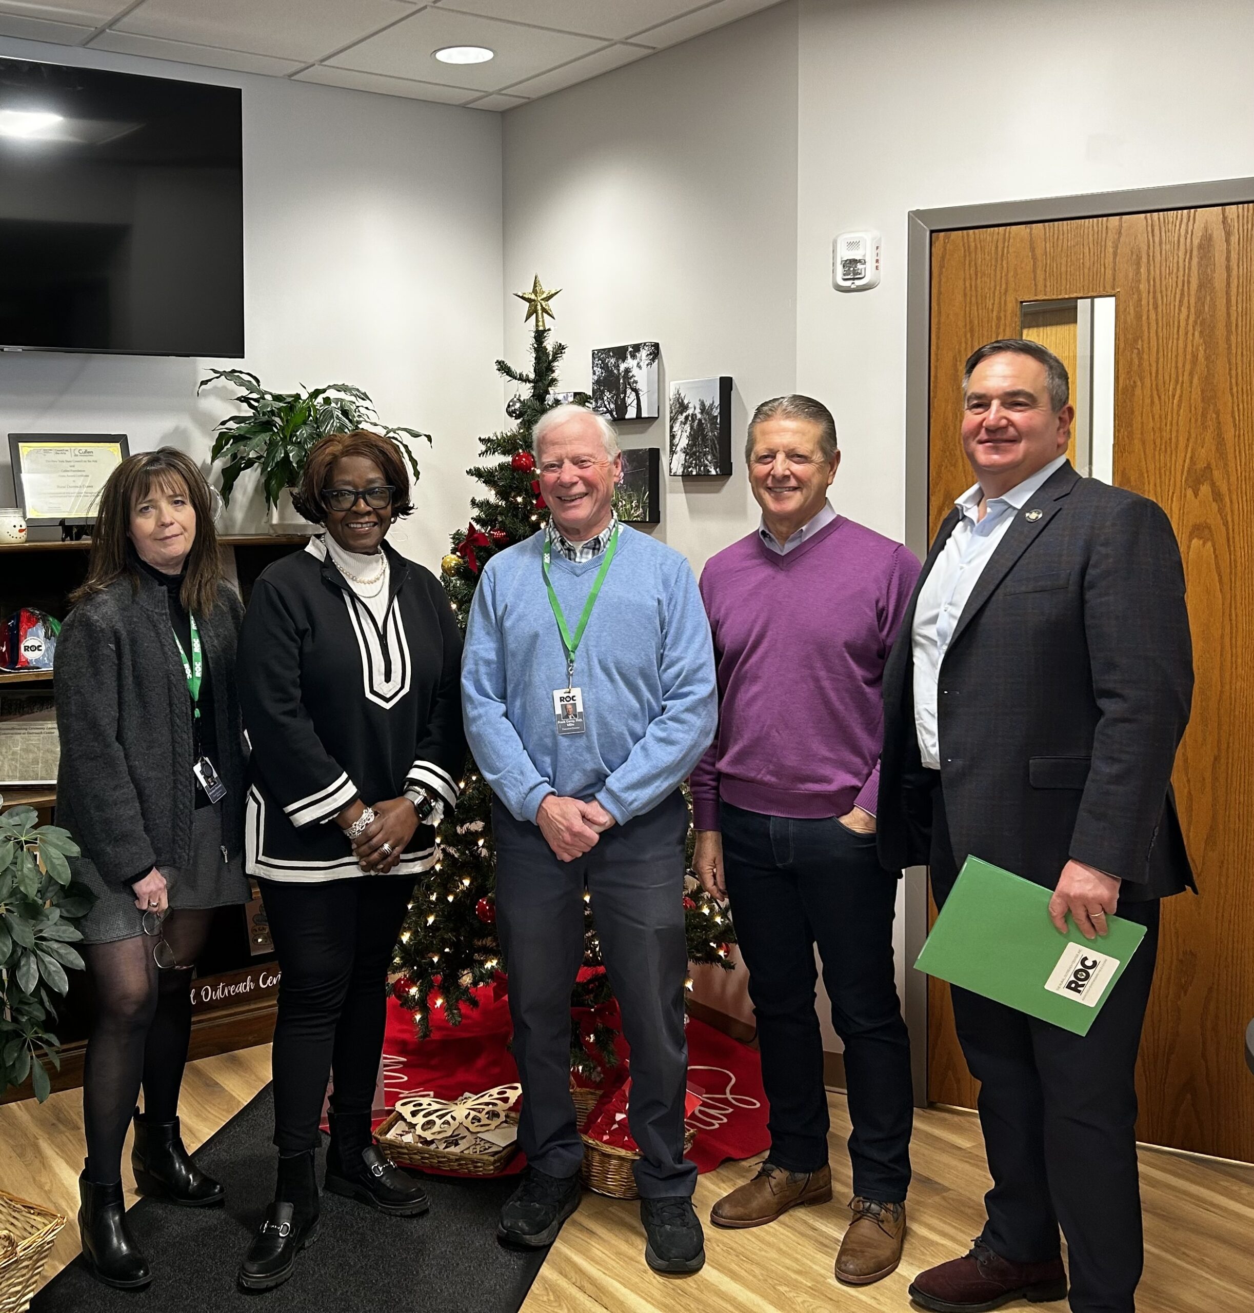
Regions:
<instances>
[{"instance_id":1,"label":"sheer black tights on the leftmost woman's legs above ankle boots","mask_svg":"<svg viewBox=\"0 0 1254 1313\"><path fill-rule=\"evenodd\" d=\"M173 1121L192 1035L192 966L205 947L215 909L171 911L162 927L175 970L158 970L156 939L135 935L83 944L95 1016L83 1064L83 1129L88 1179L122 1176L122 1142L143 1085L144 1115Z\"/></svg>"}]
</instances>

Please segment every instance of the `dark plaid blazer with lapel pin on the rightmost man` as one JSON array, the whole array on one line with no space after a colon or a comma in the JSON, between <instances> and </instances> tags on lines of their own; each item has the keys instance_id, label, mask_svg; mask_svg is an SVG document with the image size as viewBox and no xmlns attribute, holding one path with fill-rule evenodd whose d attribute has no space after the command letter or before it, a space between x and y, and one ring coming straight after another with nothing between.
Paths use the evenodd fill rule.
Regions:
<instances>
[{"instance_id":1,"label":"dark plaid blazer with lapel pin on the rightmost man","mask_svg":"<svg viewBox=\"0 0 1254 1313\"><path fill-rule=\"evenodd\" d=\"M890 871L928 863L910 634L957 520L955 509L936 534L884 671L877 829ZM1170 789L1192 646L1180 553L1157 503L1062 466L989 559L939 683L960 867L974 853L1052 889L1075 859L1119 876L1133 901L1194 888Z\"/></svg>"}]
</instances>

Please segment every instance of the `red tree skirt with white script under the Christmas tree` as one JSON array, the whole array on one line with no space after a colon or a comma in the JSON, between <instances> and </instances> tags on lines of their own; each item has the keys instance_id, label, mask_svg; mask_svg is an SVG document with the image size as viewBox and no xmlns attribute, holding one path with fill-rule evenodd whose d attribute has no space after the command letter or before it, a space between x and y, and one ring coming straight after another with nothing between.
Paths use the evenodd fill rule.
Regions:
<instances>
[{"instance_id":1,"label":"red tree skirt with white script under the Christmas tree","mask_svg":"<svg viewBox=\"0 0 1254 1313\"><path fill-rule=\"evenodd\" d=\"M457 1099L467 1092L509 1085L519 1078L509 1052L509 1008L485 986L479 1007L465 1008L461 1025L448 1024L443 1011L431 1018L431 1039L420 1040L414 1016L395 999L387 1003L383 1036L385 1103L391 1108L407 1094ZM622 1044L626 1053L626 1045ZM737 1044L703 1022L688 1022L688 1088L701 1106L688 1119L697 1138L688 1157L697 1171L713 1171L727 1158L751 1158L769 1148L767 1096L754 1049ZM521 1171L517 1154L507 1173Z\"/></svg>"}]
</instances>

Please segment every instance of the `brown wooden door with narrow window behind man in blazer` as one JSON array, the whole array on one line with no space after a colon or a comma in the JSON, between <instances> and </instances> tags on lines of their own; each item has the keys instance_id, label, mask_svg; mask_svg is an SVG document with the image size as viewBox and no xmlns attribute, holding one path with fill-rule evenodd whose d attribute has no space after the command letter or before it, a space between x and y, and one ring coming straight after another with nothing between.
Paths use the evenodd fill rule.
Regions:
<instances>
[{"instance_id":1,"label":"brown wooden door with narrow window behind man in blazer","mask_svg":"<svg viewBox=\"0 0 1254 1313\"><path fill-rule=\"evenodd\" d=\"M1175 765L1200 897L1163 902L1141 1045L1141 1140L1254 1161L1254 206L932 239L931 529L972 481L965 357L1020 306L1116 298L1115 482L1158 502L1184 559L1196 685ZM930 982L928 1094L970 1107L947 986Z\"/></svg>"}]
</instances>

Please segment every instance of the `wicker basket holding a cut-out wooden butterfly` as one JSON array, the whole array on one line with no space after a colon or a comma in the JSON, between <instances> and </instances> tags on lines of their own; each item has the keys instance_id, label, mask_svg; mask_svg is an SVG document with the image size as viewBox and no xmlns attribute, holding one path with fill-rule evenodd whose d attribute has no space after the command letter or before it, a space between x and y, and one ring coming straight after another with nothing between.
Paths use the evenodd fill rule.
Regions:
<instances>
[{"instance_id":1,"label":"wicker basket holding a cut-out wooden butterfly","mask_svg":"<svg viewBox=\"0 0 1254 1313\"><path fill-rule=\"evenodd\" d=\"M521 1094L521 1086L499 1085L460 1099L408 1095L397 1100L374 1138L398 1167L495 1176L517 1153Z\"/></svg>"}]
</instances>

